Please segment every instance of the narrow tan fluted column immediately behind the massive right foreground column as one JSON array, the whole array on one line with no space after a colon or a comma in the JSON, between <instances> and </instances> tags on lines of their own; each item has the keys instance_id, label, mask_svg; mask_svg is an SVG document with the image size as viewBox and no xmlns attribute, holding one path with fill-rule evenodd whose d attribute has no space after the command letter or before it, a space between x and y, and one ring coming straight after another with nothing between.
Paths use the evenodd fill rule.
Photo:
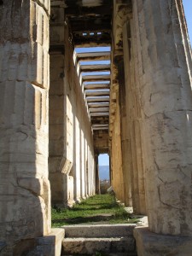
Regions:
<instances>
[{"instance_id":1,"label":"narrow tan fluted column immediately behind the massive right foreground column","mask_svg":"<svg viewBox=\"0 0 192 256\"><path fill-rule=\"evenodd\" d=\"M123 27L124 61L125 61L125 106L126 106L126 136L127 159L126 183L131 191L133 211L146 213L143 153L141 147L140 119L141 109L137 94L136 71L133 47L131 47L131 19ZM128 190L129 191L129 190Z\"/></svg>"}]
</instances>

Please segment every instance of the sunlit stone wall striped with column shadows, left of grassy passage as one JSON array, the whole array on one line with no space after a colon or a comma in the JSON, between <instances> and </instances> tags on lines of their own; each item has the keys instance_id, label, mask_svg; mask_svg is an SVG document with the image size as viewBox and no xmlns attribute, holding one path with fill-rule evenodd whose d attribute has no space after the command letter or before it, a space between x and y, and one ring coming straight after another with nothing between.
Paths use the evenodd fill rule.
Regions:
<instances>
[{"instance_id":1,"label":"sunlit stone wall striped with column shadows, left of grassy passage","mask_svg":"<svg viewBox=\"0 0 192 256\"><path fill-rule=\"evenodd\" d=\"M50 56L49 179L53 203L71 207L74 201L95 194L94 149L68 28L64 27L62 37L62 30L57 27L55 31L55 22L50 31L59 36L50 36L53 50ZM59 42L55 42L55 38L59 38Z\"/></svg>"}]
</instances>

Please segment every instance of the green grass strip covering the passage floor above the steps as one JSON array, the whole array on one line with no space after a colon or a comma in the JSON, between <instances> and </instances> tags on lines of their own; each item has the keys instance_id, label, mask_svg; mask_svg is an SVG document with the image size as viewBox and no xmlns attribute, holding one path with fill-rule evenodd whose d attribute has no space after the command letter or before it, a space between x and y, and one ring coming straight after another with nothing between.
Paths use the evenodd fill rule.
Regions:
<instances>
[{"instance_id":1,"label":"green grass strip covering the passage floor above the steps","mask_svg":"<svg viewBox=\"0 0 192 256\"><path fill-rule=\"evenodd\" d=\"M68 224L128 224L137 223L136 218L126 212L114 200L113 195L94 195L72 208L52 208L52 226Z\"/></svg>"}]
</instances>

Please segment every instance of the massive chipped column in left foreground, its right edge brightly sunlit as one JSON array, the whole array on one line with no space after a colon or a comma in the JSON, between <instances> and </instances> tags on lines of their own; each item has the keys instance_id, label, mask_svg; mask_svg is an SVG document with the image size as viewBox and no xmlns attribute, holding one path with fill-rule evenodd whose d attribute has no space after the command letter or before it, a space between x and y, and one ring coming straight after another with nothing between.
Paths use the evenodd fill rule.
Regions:
<instances>
[{"instance_id":1,"label":"massive chipped column in left foreground, its right edge brightly sunlit","mask_svg":"<svg viewBox=\"0 0 192 256\"><path fill-rule=\"evenodd\" d=\"M49 1L3 1L0 34L0 251L8 256L50 232Z\"/></svg>"}]
</instances>

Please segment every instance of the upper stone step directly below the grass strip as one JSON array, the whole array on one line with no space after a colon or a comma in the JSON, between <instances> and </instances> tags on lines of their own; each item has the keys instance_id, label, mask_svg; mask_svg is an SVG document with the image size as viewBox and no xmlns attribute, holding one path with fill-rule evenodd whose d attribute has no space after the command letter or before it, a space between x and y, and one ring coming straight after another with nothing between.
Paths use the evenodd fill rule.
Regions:
<instances>
[{"instance_id":1,"label":"upper stone step directly below the grass strip","mask_svg":"<svg viewBox=\"0 0 192 256\"><path fill-rule=\"evenodd\" d=\"M65 237L117 237L133 236L136 224L96 224L63 226Z\"/></svg>"}]
</instances>

